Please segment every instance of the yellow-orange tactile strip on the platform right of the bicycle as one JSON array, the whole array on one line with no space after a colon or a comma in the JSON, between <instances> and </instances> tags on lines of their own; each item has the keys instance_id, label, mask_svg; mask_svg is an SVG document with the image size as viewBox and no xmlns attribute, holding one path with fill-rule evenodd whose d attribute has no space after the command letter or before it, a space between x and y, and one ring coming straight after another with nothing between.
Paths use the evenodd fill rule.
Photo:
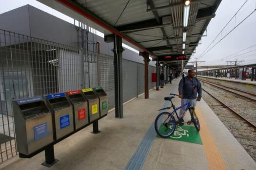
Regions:
<instances>
[{"instance_id":1,"label":"yellow-orange tactile strip on the platform right of the bicycle","mask_svg":"<svg viewBox=\"0 0 256 170\"><path fill-rule=\"evenodd\" d=\"M227 170L226 165L220 155L218 148L211 136L205 120L203 119L200 111L197 110L197 116L200 122L200 131L201 140L203 143L204 152L206 154L207 162L209 164L210 170Z\"/></svg>"}]
</instances>

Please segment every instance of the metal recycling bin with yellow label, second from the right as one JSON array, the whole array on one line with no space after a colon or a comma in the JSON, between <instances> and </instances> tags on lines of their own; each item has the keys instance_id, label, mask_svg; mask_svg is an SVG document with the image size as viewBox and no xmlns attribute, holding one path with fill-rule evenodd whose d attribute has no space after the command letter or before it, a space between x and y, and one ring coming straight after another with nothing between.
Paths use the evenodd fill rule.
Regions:
<instances>
[{"instance_id":1,"label":"metal recycling bin with yellow label, second from the right","mask_svg":"<svg viewBox=\"0 0 256 170\"><path fill-rule=\"evenodd\" d=\"M90 122L99 118L99 100L92 88L82 89L82 94L88 101Z\"/></svg>"}]
</instances>

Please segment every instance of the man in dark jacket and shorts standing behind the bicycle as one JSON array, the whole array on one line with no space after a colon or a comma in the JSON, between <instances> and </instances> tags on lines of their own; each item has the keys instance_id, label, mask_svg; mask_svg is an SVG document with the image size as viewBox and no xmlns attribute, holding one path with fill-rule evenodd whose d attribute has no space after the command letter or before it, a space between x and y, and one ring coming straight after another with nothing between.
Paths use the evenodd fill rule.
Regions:
<instances>
[{"instance_id":1,"label":"man in dark jacket and shorts standing behind the bicycle","mask_svg":"<svg viewBox=\"0 0 256 170\"><path fill-rule=\"evenodd\" d=\"M181 98L181 105L187 101L191 102L191 107L196 106L197 101L201 100L202 88L200 81L195 77L195 70L189 69L188 76L182 78L178 84L178 97ZM197 96L198 93L198 96ZM182 107L179 112L181 117L185 111L185 107Z\"/></svg>"}]
</instances>

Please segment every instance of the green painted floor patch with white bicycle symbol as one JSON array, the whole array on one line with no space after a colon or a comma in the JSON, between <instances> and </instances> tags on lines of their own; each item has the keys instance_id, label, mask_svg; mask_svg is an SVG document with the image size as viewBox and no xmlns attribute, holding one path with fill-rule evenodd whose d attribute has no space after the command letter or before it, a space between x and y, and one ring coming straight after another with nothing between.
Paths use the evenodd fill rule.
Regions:
<instances>
[{"instance_id":1,"label":"green painted floor patch with white bicycle symbol","mask_svg":"<svg viewBox=\"0 0 256 170\"><path fill-rule=\"evenodd\" d=\"M164 133L165 127L160 126L159 131ZM157 137L160 137L157 135ZM161 137L160 137L161 138ZM167 139L180 140L184 142L196 143L202 145L202 140L199 135L199 132L194 126L176 126L174 133L167 137Z\"/></svg>"}]
</instances>

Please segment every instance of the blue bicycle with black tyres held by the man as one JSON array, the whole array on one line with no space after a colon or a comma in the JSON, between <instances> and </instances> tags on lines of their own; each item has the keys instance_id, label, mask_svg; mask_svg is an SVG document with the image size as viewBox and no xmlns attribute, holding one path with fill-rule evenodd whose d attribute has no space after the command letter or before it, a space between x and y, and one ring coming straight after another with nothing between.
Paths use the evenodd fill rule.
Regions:
<instances>
[{"instance_id":1,"label":"blue bicycle with black tyres held by the man","mask_svg":"<svg viewBox=\"0 0 256 170\"><path fill-rule=\"evenodd\" d=\"M191 122L194 123L197 131L200 130L200 124L199 124L199 120L197 118L197 113L195 111L194 107L191 107L191 103L190 102L186 102L185 104L179 106L179 107L175 107L175 105L172 102L172 99L175 98L175 96L178 96L177 94L170 94L172 96L170 97L165 97L164 100L165 101L170 101L172 103L171 107L166 107L166 108L162 108L159 110L166 110L166 109L171 109L173 108L173 112L169 113L169 112L162 112L160 113L156 120L155 120L155 129L156 132L159 136L161 137L169 137L171 136L174 131L176 126L182 126L185 122L184 122L184 116L186 115L187 111L189 110L190 112L190 116L191 116L191 120L187 121L187 124L191 124ZM177 110L182 108L182 107L186 107L182 117L179 117L177 114ZM174 118L174 114L176 114L177 116L177 121Z\"/></svg>"}]
</instances>

